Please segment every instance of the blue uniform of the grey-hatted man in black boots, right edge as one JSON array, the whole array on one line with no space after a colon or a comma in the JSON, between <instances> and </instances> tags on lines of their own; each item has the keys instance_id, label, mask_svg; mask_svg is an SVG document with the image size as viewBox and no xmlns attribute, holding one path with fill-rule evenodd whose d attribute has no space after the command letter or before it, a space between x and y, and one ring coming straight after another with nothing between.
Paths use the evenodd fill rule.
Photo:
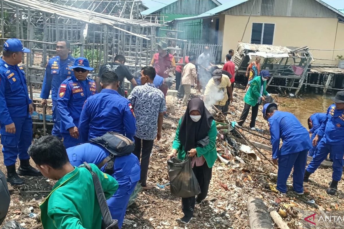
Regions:
<instances>
[{"instance_id":1,"label":"blue uniform of the grey-hatted man in black boots, right edge","mask_svg":"<svg viewBox=\"0 0 344 229\"><path fill-rule=\"evenodd\" d=\"M330 152L330 158L333 160L332 180L340 181L344 162L344 110L337 110L335 104L330 105L326 119L318 129L318 136L323 138L318 140L315 155L306 170L314 173Z\"/></svg>"}]
</instances>

